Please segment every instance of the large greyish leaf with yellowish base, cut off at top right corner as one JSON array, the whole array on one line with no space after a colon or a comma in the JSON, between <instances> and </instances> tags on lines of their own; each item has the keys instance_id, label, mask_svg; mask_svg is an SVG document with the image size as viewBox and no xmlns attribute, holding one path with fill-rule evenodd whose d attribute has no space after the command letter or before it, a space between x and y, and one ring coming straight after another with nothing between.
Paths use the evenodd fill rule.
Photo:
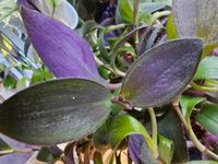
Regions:
<instances>
[{"instance_id":1,"label":"large greyish leaf with yellowish base, cut off at top right corner","mask_svg":"<svg viewBox=\"0 0 218 164\"><path fill-rule=\"evenodd\" d=\"M180 37L196 36L204 39L204 54L218 46L218 1L174 0L172 13Z\"/></svg>"}]
</instances>

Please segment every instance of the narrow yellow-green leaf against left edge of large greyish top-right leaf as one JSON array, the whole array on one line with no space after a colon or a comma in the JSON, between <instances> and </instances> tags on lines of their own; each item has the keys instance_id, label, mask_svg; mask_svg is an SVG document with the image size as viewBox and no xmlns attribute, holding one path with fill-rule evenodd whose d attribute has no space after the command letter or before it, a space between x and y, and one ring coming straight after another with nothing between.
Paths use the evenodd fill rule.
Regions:
<instances>
[{"instance_id":1,"label":"narrow yellow-green leaf against left edge of large greyish top-right leaf","mask_svg":"<svg viewBox=\"0 0 218 164\"><path fill-rule=\"evenodd\" d=\"M178 33L177 33L174 24L173 24L173 15L172 14L170 14L168 17L166 34L167 34L167 38L169 40L178 38Z\"/></svg>"}]
</instances>

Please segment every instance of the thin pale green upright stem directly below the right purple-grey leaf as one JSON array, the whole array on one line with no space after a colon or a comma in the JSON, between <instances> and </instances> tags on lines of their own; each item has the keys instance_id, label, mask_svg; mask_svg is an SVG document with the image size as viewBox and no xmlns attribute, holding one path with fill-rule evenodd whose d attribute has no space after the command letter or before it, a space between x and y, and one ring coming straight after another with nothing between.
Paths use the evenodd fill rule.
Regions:
<instances>
[{"instance_id":1,"label":"thin pale green upright stem directly below the right purple-grey leaf","mask_svg":"<svg viewBox=\"0 0 218 164\"><path fill-rule=\"evenodd\" d=\"M148 107L148 112L149 112L150 120L152 120L153 141L157 145L157 120L156 120L156 116L155 116L155 110L153 107Z\"/></svg>"}]
</instances>

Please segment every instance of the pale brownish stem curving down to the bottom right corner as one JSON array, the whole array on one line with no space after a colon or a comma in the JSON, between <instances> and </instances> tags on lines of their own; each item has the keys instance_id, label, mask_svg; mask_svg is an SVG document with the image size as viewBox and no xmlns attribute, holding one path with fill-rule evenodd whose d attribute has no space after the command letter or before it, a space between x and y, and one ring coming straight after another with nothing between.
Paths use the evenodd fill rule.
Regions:
<instances>
[{"instance_id":1,"label":"pale brownish stem curving down to the bottom right corner","mask_svg":"<svg viewBox=\"0 0 218 164\"><path fill-rule=\"evenodd\" d=\"M184 125L184 128L187 131L187 133L190 136L190 139L192 140L192 142L194 143L194 145L202 153L206 153L206 154L210 155L213 159L218 160L218 155L217 154L215 154L213 151L210 151L209 149L207 149L204 144L202 144L199 142L199 140L197 139L197 137L195 136L195 133L194 133L194 131L192 129L192 126L191 126L190 121L189 121L189 124L185 121L185 119L184 119L184 117L181 114L180 108L179 108L179 101L177 101L177 102L173 103L173 107L174 107L174 110L175 110L178 117L180 118L180 120Z\"/></svg>"}]
</instances>

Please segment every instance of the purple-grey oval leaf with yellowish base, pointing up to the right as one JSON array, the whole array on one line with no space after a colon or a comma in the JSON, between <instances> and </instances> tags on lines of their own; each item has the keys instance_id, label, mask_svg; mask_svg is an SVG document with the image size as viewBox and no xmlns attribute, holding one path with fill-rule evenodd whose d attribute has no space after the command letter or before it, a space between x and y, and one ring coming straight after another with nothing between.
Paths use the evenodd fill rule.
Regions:
<instances>
[{"instance_id":1,"label":"purple-grey oval leaf with yellowish base, pointing up to the right","mask_svg":"<svg viewBox=\"0 0 218 164\"><path fill-rule=\"evenodd\" d=\"M161 106L193 79L202 55L198 38L175 39L142 55L129 69L120 96L133 106Z\"/></svg>"}]
</instances>

